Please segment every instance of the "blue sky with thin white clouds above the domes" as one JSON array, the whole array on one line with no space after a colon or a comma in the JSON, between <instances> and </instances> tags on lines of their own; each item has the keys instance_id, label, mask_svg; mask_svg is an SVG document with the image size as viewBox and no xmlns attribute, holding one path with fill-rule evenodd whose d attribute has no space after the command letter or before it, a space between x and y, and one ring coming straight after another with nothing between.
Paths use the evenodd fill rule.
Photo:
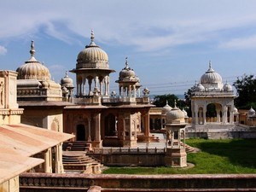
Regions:
<instances>
[{"instance_id":1,"label":"blue sky with thin white clouds above the domes","mask_svg":"<svg viewBox=\"0 0 256 192\"><path fill-rule=\"evenodd\" d=\"M27 61L33 39L37 60L59 82L93 29L117 72L111 90L126 56L154 95L183 94L210 60L232 84L255 74L255 8L253 0L0 0L0 66L16 70Z\"/></svg>"}]
</instances>

